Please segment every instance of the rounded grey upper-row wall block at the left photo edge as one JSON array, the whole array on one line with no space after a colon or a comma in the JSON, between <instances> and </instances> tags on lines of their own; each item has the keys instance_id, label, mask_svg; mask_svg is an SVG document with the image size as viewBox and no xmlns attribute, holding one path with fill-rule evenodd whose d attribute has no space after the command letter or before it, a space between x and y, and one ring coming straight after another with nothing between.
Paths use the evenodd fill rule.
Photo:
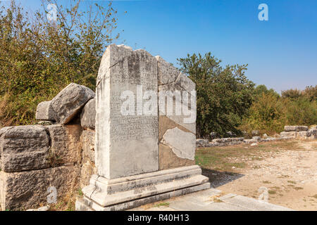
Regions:
<instances>
[{"instance_id":1,"label":"rounded grey upper-row wall block at the left photo edge","mask_svg":"<svg viewBox=\"0 0 317 225\"><path fill-rule=\"evenodd\" d=\"M20 172L49 167L49 136L39 125L0 130L1 169Z\"/></svg>"}]
</instances>

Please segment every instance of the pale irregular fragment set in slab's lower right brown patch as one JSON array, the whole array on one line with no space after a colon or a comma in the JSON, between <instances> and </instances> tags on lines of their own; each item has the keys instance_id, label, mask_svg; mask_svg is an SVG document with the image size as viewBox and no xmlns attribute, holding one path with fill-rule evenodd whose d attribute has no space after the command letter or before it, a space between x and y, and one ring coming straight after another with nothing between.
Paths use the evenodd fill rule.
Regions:
<instances>
[{"instance_id":1,"label":"pale irregular fragment set in slab's lower right brown patch","mask_svg":"<svg viewBox=\"0 0 317 225\"><path fill-rule=\"evenodd\" d=\"M175 127L168 129L163 135L162 142L169 146L179 158L194 160L196 136Z\"/></svg>"}]
</instances>

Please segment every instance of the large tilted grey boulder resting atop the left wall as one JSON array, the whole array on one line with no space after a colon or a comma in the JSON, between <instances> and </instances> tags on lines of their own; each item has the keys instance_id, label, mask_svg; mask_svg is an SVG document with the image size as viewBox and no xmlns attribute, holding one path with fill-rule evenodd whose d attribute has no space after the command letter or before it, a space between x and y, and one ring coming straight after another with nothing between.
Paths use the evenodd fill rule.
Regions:
<instances>
[{"instance_id":1,"label":"large tilted grey boulder resting atop the left wall","mask_svg":"<svg viewBox=\"0 0 317 225\"><path fill-rule=\"evenodd\" d=\"M82 109L82 106L94 98L94 91L80 84L68 84L52 100L51 107L56 113L56 122L67 124Z\"/></svg>"}]
</instances>

